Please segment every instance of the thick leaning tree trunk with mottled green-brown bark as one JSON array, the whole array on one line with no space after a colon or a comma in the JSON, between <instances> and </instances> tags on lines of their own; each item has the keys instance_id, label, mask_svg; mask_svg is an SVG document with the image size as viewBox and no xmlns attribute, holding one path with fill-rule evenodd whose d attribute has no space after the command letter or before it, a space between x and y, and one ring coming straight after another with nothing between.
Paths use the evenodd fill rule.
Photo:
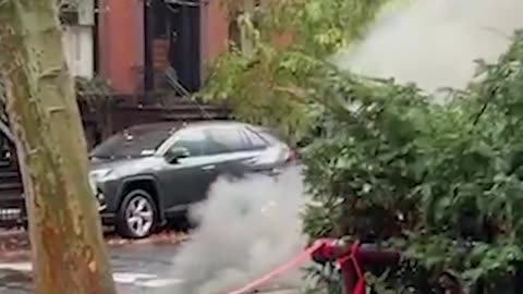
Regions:
<instances>
[{"instance_id":1,"label":"thick leaning tree trunk with mottled green-brown bark","mask_svg":"<svg viewBox=\"0 0 523 294\"><path fill-rule=\"evenodd\" d=\"M0 72L22 167L36 294L114 294L56 0L0 1Z\"/></svg>"}]
</instances>

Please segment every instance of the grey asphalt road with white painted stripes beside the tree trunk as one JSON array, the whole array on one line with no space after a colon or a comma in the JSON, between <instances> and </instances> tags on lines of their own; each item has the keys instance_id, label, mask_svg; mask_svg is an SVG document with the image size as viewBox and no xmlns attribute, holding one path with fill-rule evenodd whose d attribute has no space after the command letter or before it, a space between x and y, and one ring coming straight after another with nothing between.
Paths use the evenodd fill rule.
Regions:
<instances>
[{"instance_id":1,"label":"grey asphalt road with white painted stripes beside the tree trunk","mask_svg":"<svg viewBox=\"0 0 523 294\"><path fill-rule=\"evenodd\" d=\"M139 244L110 248L113 278L119 293L179 293L177 289L181 289L184 281L170 274L174 267L171 260L175 254L175 245ZM266 291L275 294L296 293L278 290L277 285L269 285ZM29 293L33 293L31 262L0 260L0 294Z\"/></svg>"}]
</instances>

